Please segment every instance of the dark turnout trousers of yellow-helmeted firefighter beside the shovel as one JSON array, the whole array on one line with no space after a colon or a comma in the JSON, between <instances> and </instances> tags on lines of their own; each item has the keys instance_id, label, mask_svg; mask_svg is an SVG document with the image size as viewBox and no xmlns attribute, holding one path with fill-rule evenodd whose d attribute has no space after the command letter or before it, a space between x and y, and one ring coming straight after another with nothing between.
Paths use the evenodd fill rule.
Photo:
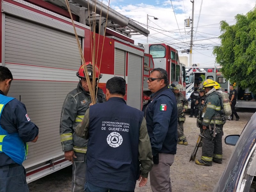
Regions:
<instances>
[{"instance_id":1,"label":"dark turnout trousers of yellow-helmeted firefighter beside the shovel","mask_svg":"<svg viewBox=\"0 0 256 192\"><path fill-rule=\"evenodd\" d=\"M202 156L201 160L206 165L212 165L212 161L216 163L222 163L222 136L223 136L223 125L220 126L220 133L217 133L215 139L212 139L212 134L207 128L204 131L204 137L202 138ZM212 125L213 129L213 125Z\"/></svg>"}]
</instances>

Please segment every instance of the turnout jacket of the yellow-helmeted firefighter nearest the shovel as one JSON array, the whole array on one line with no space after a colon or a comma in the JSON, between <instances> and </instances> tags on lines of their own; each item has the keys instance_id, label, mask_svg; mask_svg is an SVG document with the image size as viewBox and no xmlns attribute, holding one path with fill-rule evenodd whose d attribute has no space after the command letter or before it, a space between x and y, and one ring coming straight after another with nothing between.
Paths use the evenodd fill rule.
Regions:
<instances>
[{"instance_id":1,"label":"turnout jacket of the yellow-helmeted firefighter nearest the shovel","mask_svg":"<svg viewBox=\"0 0 256 192\"><path fill-rule=\"evenodd\" d=\"M206 97L202 113L204 126L213 125L214 121L216 125L225 123L221 118L221 101L217 92L214 91Z\"/></svg>"}]
</instances>

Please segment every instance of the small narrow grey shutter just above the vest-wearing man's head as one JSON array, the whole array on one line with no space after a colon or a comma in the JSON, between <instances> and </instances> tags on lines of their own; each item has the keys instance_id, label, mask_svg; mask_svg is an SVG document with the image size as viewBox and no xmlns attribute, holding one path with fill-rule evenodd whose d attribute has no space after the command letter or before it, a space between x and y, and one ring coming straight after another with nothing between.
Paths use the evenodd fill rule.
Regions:
<instances>
[{"instance_id":1,"label":"small narrow grey shutter just above the vest-wearing man's head","mask_svg":"<svg viewBox=\"0 0 256 192\"><path fill-rule=\"evenodd\" d=\"M125 52L120 49L115 49L115 76L125 79Z\"/></svg>"}]
</instances>

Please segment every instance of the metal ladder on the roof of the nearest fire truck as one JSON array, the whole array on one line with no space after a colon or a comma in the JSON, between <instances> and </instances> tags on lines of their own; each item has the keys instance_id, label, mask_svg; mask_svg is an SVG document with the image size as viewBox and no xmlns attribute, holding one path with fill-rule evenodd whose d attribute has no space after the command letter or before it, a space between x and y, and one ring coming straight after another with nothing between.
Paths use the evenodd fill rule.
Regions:
<instances>
[{"instance_id":1,"label":"metal ladder on the roof of the nearest fire truck","mask_svg":"<svg viewBox=\"0 0 256 192\"><path fill-rule=\"evenodd\" d=\"M55 4L62 8L67 9L65 0L44 0L48 3ZM92 8L95 6L95 0L72 0L68 1L71 11L79 16L79 22L85 25L89 25L89 22L92 23L93 15ZM89 7L88 7L89 4ZM90 11L90 12L89 12ZM108 8L107 5L102 4L101 1L96 0L96 20L98 20L98 25L100 22L100 11L101 11L101 30L99 31L100 35L103 35L103 29L105 25L107 28L112 29L118 33L121 33L125 36L131 37L132 35L144 35L148 36L149 31L146 28L141 27L139 24L134 22L132 19L122 15L119 12L116 12L112 8ZM108 21L106 22L106 17L108 14ZM90 20L89 20L89 15Z\"/></svg>"}]
</instances>

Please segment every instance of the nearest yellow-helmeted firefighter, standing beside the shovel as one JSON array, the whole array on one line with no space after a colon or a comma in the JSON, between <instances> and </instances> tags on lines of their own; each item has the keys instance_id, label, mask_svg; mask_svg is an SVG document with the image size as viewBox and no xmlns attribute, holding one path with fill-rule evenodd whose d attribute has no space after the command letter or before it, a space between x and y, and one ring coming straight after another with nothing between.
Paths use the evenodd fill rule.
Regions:
<instances>
[{"instance_id":1,"label":"nearest yellow-helmeted firefighter, standing beside the shovel","mask_svg":"<svg viewBox=\"0 0 256 192\"><path fill-rule=\"evenodd\" d=\"M222 117L221 100L214 86L216 83L211 79L203 82L206 92L206 99L203 105L202 125L204 137L202 138L202 156L200 160L196 160L198 165L211 166L212 161L222 163L222 136L223 124L225 120Z\"/></svg>"}]
</instances>

